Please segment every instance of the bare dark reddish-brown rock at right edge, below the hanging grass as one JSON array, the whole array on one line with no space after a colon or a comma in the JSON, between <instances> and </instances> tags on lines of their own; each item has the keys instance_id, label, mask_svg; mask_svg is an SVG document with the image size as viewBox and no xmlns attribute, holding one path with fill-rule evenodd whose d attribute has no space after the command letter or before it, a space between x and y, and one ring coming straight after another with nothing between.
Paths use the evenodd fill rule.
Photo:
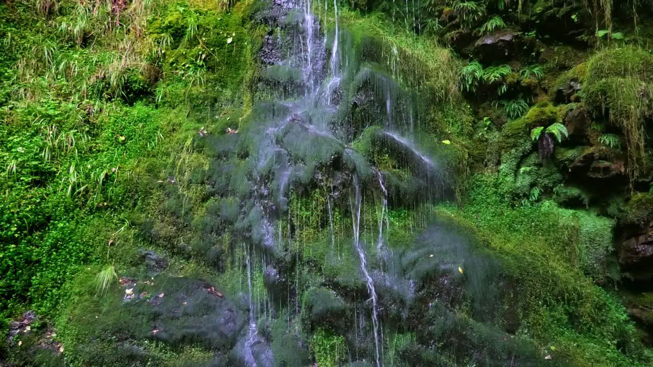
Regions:
<instances>
[{"instance_id":1,"label":"bare dark reddish-brown rock at right edge, below the hanging grass","mask_svg":"<svg viewBox=\"0 0 653 367\"><path fill-rule=\"evenodd\" d=\"M621 243L619 263L633 281L653 281L653 221Z\"/></svg>"}]
</instances>

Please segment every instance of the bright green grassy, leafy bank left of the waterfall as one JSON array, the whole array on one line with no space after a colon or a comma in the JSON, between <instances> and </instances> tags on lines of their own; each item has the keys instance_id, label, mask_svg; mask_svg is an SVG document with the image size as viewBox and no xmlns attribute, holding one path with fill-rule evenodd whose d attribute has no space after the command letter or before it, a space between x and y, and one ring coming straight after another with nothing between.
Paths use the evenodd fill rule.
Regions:
<instances>
[{"instance_id":1,"label":"bright green grassy, leafy bank left of the waterfall","mask_svg":"<svg viewBox=\"0 0 653 367\"><path fill-rule=\"evenodd\" d=\"M261 30L246 3L136 1L119 23L97 5L0 5L3 321L53 317L62 285L98 264L121 276L136 247L201 267L188 263L208 199L197 142L251 110Z\"/></svg>"}]
</instances>

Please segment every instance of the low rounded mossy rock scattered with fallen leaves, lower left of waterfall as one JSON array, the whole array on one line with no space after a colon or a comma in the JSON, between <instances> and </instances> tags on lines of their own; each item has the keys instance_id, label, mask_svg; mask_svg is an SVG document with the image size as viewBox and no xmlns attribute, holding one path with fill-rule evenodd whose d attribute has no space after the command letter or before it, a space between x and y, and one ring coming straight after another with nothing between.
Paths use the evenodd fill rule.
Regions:
<instances>
[{"instance_id":1,"label":"low rounded mossy rock scattered with fallen leaves, lower left of waterfall","mask_svg":"<svg viewBox=\"0 0 653 367\"><path fill-rule=\"evenodd\" d=\"M88 272L72 285L56 324L72 366L165 364L186 347L228 355L246 324L244 312L201 279L128 281L98 296ZM168 357L152 341L170 347Z\"/></svg>"}]
</instances>

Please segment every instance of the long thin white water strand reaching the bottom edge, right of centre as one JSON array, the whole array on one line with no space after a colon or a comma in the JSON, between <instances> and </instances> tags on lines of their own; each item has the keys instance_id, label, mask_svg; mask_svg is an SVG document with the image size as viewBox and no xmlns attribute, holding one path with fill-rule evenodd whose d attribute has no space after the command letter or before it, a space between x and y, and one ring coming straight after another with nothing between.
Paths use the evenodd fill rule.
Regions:
<instances>
[{"instance_id":1,"label":"long thin white water strand reaching the bottom edge, right of centre","mask_svg":"<svg viewBox=\"0 0 653 367\"><path fill-rule=\"evenodd\" d=\"M376 291L374 290L374 281L367 270L367 260L365 258L365 253L360 247L360 185L358 184L358 176L354 174L353 178L353 193L352 197L349 198L351 205L351 225L353 227L354 234L354 246L358 252L358 257L360 257L360 269L363 272L365 281L367 282L368 292L372 298L372 327L374 328L374 348L375 348L375 360L376 366L381 367L381 360L379 359L379 321L377 317L377 308L376 308Z\"/></svg>"}]
</instances>

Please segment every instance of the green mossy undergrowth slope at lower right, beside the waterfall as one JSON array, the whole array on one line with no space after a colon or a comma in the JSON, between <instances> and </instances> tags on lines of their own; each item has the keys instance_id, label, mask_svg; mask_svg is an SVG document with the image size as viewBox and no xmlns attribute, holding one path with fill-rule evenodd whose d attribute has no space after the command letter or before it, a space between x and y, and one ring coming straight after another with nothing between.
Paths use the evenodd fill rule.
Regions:
<instances>
[{"instance_id":1,"label":"green mossy undergrowth slope at lower right, beside the waterfall","mask_svg":"<svg viewBox=\"0 0 653 367\"><path fill-rule=\"evenodd\" d=\"M475 176L462 210L442 207L439 217L470 228L502 259L518 284L520 332L573 366L644 365L650 352L617 296L584 274L605 276L595 267L610 252L609 219L552 202L511 206L498 177Z\"/></svg>"}]
</instances>

